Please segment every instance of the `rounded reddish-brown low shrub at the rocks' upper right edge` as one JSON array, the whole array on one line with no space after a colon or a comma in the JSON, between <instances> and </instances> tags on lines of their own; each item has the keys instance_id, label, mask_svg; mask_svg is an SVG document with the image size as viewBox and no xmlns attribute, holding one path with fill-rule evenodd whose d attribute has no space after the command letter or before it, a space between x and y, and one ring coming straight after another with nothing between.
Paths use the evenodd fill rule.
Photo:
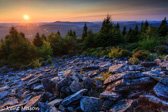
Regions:
<instances>
[{"instance_id":1,"label":"rounded reddish-brown low shrub at the rocks' upper right edge","mask_svg":"<svg viewBox=\"0 0 168 112\"><path fill-rule=\"evenodd\" d=\"M146 50L139 50L139 51L133 53L132 57L138 58L141 60L145 60L147 58L148 54L149 54L149 52Z\"/></svg>"}]
</instances>

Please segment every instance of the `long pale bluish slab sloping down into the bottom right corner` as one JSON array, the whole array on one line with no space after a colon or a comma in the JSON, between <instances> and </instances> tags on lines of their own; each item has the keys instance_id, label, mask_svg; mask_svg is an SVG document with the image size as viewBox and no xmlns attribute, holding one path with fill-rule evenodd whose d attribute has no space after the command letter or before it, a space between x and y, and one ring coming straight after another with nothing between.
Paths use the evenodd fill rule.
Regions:
<instances>
[{"instance_id":1,"label":"long pale bluish slab sloping down into the bottom right corner","mask_svg":"<svg viewBox=\"0 0 168 112\"><path fill-rule=\"evenodd\" d=\"M168 108L168 102L163 101L163 100L157 98L156 96L141 95L139 98L140 98L141 101L148 101L150 103L154 103L154 104L157 104L157 105L164 106L164 107Z\"/></svg>"}]
</instances>

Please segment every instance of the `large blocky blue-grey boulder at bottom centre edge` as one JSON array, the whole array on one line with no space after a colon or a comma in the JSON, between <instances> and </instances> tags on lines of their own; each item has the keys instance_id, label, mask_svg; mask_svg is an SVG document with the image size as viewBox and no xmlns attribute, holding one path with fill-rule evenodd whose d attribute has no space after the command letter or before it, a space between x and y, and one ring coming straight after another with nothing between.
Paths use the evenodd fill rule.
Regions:
<instances>
[{"instance_id":1,"label":"large blocky blue-grey boulder at bottom centre edge","mask_svg":"<svg viewBox=\"0 0 168 112\"><path fill-rule=\"evenodd\" d=\"M80 107L84 112L98 112L101 106L101 100L95 97L83 96L80 100Z\"/></svg>"}]
</instances>

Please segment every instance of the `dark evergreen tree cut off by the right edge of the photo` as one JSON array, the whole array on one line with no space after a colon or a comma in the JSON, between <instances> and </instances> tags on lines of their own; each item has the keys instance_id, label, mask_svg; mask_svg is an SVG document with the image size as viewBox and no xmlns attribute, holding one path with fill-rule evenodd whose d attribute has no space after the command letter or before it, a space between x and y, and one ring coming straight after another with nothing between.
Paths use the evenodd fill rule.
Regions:
<instances>
[{"instance_id":1,"label":"dark evergreen tree cut off by the right edge of the photo","mask_svg":"<svg viewBox=\"0 0 168 112\"><path fill-rule=\"evenodd\" d=\"M168 33L168 26L167 26L166 17L162 20L162 23L159 26L159 33L161 36L166 36Z\"/></svg>"}]
</instances>

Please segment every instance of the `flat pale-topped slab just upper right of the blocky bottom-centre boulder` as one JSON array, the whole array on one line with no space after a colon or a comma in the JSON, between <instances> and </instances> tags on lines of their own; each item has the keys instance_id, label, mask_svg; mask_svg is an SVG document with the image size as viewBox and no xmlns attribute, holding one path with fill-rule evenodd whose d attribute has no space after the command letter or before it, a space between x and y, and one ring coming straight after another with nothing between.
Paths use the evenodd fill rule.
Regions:
<instances>
[{"instance_id":1,"label":"flat pale-topped slab just upper right of the blocky bottom-centre boulder","mask_svg":"<svg viewBox=\"0 0 168 112\"><path fill-rule=\"evenodd\" d=\"M104 91L100 94L100 98L116 101L120 97L119 94L110 91Z\"/></svg>"}]
</instances>

